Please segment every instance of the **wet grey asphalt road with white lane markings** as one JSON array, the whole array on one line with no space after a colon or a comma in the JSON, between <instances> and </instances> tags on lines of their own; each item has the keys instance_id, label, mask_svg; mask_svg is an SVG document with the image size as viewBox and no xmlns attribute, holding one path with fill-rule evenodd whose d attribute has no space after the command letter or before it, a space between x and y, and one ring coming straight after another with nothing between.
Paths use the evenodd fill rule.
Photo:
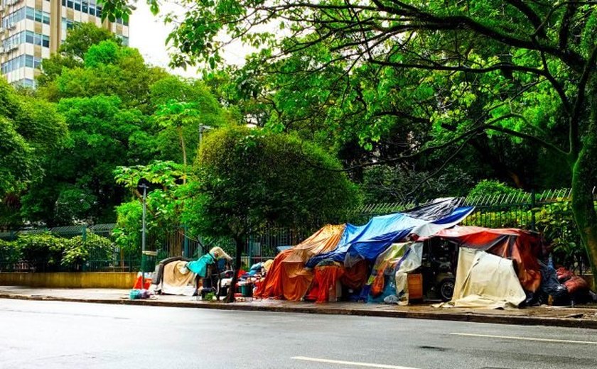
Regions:
<instances>
[{"instance_id":1,"label":"wet grey asphalt road with white lane markings","mask_svg":"<svg viewBox=\"0 0 597 369\"><path fill-rule=\"evenodd\" d=\"M597 331L0 299L0 368L597 368Z\"/></svg>"}]
</instances>

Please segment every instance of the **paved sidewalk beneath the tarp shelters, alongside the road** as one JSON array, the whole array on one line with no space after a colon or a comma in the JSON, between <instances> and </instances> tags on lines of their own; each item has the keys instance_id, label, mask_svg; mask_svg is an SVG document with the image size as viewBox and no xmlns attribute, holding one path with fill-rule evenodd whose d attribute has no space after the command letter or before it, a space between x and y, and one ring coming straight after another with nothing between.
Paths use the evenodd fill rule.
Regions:
<instances>
[{"instance_id":1,"label":"paved sidewalk beneath the tarp shelters, alongside the road","mask_svg":"<svg viewBox=\"0 0 597 369\"><path fill-rule=\"evenodd\" d=\"M21 286L0 286L0 299L28 299L43 301L93 302L99 304L130 304L158 307L192 307L201 309L244 310L262 312L290 312L309 314L338 314L383 316L389 318L475 321L497 324L564 326L597 329L597 306L592 307L531 307L517 310L438 309L429 304L407 307L384 304L337 302L313 304L273 299L252 302L203 302L194 297L159 295L156 299L130 300L129 290L113 289L52 289Z\"/></svg>"}]
</instances>

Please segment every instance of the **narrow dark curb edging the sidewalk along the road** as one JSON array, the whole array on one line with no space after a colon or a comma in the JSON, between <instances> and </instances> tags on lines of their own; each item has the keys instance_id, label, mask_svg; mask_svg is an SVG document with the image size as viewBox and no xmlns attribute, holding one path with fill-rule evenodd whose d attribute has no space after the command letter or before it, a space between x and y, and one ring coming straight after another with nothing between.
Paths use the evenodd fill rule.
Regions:
<instances>
[{"instance_id":1,"label":"narrow dark curb edging the sidewalk along the road","mask_svg":"<svg viewBox=\"0 0 597 369\"><path fill-rule=\"evenodd\" d=\"M427 319L445 321L468 321L473 323L492 324L517 324L524 326L557 326L564 328L597 329L597 320L577 318L552 318L540 316L499 316L475 313L429 313L429 312L404 312L389 310L365 309L333 309L326 307L267 307L240 304L198 304L195 302L168 302L157 300L129 300L129 299L80 299L53 296L28 296L19 294L0 294L0 299L21 299L31 301L60 301L60 302L87 302L92 304L137 305L152 307L187 307L195 309L215 309L245 312L286 312L298 314L324 314L324 315L352 315L352 316L377 316L384 318L402 319Z\"/></svg>"}]
</instances>

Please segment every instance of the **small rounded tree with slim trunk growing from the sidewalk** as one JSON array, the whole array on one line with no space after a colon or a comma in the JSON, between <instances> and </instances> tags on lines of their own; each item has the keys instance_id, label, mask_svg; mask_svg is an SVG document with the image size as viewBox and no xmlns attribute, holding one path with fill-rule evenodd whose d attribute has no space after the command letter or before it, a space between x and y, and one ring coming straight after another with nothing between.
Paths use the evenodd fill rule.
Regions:
<instances>
[{"instance_id":1,"label":"small rounded tree with slim trunk growing from the sidewalk","mask_svg":"<svg viewBox=\"0 0 597 369\"><path fill-rule=\"evenodd\" d=\"M196 234L229 236L236 243L235 277L252 229L343 221L357 202L354 185L321 148L285 134L221 128L200 148L183 219ZM228 296L232 301L234 294Z\"/></svg>"}]
</instances>

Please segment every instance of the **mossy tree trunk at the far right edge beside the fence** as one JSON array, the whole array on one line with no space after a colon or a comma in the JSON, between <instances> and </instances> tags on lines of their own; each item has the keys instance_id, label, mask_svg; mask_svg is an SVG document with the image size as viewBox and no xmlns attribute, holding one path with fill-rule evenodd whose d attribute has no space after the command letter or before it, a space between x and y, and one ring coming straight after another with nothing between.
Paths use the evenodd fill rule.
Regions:
<instances>
[{"instance_id":1,"label":"mossy tree trunk at the far right edge beside the fence","mask_svg":"<svg viewBox=\"0 0 597 369\"><path fill-rule=\"evenodd\" d=\"M597 173L597 99L591 102L591 123L572 169L572 211L591 263L593 287L597 287L597 212L593 200L593 180Z\"/></svg>"}]
</instances>

